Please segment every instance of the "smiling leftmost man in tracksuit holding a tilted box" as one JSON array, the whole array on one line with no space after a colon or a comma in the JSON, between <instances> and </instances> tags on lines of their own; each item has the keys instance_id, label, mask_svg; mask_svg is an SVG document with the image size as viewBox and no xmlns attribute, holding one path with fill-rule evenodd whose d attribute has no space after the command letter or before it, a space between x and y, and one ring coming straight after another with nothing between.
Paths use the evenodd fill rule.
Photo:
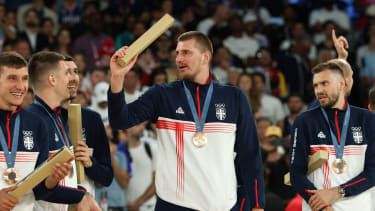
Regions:
<instances>
[{"instance_id":1,"label":"smiling leftmost man in tracksuit holding a tilted box","mask_svg":"<svg viewBox=\"0 0 375 211\"><path fill-rule=\"evenodd\" d=\"M19 201L8 192L48 158L46 126L20 105L28 90L26 60L17 53L0 54L0 210L32 210L69 172L69 163L56 164L52 174Z\"/></svg>"}]
</instances>

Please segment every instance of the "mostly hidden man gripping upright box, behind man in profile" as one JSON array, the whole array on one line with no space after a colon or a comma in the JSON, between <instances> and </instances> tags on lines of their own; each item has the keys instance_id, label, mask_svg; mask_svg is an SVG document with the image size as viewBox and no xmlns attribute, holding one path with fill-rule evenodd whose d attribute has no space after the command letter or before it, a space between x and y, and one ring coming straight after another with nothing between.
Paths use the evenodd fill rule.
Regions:
<instances>
[{"instance_id":1,"label":"mostly hidden man gripping upright box, behind man in profile","mask_svg":"<svg viewBox=\"0 0 375 211\"><path fill-rule=\"evenodd\" d=\"M79 87L78 67L69 56L65 56L65 67L73 73L69 81L70 98L63 102L61 110L62 121L68 126L68 105L71 99L77 96ZM113 179L111 165L111 154L109 152L108 137L100 114L82 107L82 141L74 148L76 160L82 161L85 168L85 182L82 184L86 190L95 195L95 183L102 186L109 186Z\"/></svg>"}]
</instances>

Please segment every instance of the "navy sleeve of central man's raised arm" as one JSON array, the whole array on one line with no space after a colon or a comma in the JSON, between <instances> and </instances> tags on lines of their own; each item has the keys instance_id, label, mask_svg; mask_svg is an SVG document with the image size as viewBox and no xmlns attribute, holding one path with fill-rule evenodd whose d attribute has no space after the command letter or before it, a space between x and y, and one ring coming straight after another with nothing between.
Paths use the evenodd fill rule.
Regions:
<instances>
[{"instance_id":1,"label":"navy sleeve of central man's raised arm","mask_svg":"<svg viewBox=\"0 0 375 211\"><path fill-rule=\"evenodd\" d=\"M154 85L136 101L126 104L124 90L111 93L108 90L109 123L114 129L127 129L149 119L155 119L155 105L159 86Z\"/></svg>"}]
</instances>

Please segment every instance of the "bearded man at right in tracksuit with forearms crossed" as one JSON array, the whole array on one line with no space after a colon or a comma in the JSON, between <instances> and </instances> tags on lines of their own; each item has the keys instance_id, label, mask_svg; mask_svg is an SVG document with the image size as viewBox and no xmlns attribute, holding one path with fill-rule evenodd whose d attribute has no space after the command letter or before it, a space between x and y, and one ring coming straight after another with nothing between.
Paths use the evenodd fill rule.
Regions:
<instances>
[{"instance_id":1,"label":"bearded man at right in tracksuit with forearms crossed","mask_svg":"<svg viewBox=\"0 0 375 211\"><path fill-rule=\"evenodd\" d=\"M375 114L348 104L344 71L334 62L313 68L318 108L299 115L291 137L291 183L303 211L373 211ZM329 160L306 176L308 157L327 150Z\"/></svg>"}]
</instances>

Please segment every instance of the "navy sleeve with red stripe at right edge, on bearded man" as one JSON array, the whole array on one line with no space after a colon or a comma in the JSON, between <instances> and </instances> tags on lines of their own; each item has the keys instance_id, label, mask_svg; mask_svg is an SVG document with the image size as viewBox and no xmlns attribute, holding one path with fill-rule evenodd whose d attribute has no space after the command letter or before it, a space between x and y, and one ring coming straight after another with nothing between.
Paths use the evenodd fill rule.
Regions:
<instances>
[{"instance_id":1,"label":"navy sleeve with red stripe at right edge, on bearded man","mask_svg":"<svg viewBox=\"0 0 375 211\"><path fill-rule=\"evenodd\" d=\"M375 115L371 113L371 117L373 116ZM365 153L365 166L359 175L341 185L345 189L345 196L360 194L375 185L375 135L373 133L375 131L375 119L371 118L366 122L366 132L369 135L366 135L368 143Z\"/></svg>"}]
</instances>

